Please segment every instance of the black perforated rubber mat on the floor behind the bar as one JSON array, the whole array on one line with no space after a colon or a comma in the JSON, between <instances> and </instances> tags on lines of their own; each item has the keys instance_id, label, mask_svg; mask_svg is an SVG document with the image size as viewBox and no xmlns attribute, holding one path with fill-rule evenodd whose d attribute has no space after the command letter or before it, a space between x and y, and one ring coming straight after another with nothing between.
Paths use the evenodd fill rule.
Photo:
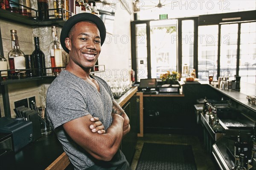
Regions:
<instances>
[{"instance_id":1,"label":"black perforated rubber mat on the floor behind the bar","mask_svg":"<svg viewBox=\"0 0 256 170\"><path fill-rule=\"evenodd\" d=\"M196 170L192 147L144 143L136 170Z\"/></svg>"}]
</instances>

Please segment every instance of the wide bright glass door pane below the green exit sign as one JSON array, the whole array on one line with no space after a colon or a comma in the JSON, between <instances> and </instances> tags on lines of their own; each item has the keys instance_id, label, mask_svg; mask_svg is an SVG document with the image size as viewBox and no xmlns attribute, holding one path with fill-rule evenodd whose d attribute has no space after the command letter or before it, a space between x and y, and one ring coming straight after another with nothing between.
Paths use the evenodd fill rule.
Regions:
<instances>
[{"instance_id":1,"label":"wide bright glass door pane below the green exit sign","mask_svg":"<svg viewBox=\"0 0 256 170\"><path fill-rule=\"evenodd\" d=\"M150 22L151 78L177 71L177 20Z\"/></svg>"}]
</instances>

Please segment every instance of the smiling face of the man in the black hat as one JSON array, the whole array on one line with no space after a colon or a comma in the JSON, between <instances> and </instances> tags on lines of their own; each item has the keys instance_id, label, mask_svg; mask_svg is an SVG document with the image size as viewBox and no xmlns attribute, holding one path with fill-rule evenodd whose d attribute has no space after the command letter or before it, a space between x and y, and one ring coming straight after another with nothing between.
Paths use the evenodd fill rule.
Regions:
<instances>
[{"instance_id":1,"label":"smiling face of the man in the black hat","mask_svg":"<svg viewBox=\"0 0 256 170\"><path fill-rule=\"evenodd\" d=\"M67 40L68 39L68 40ZM66 38L70 60L82 69L95 65L101 52L99 29L93 23L76 23L70 37ZM67 45L68 43L68 45Z\"/></svg>"}]
</instances>

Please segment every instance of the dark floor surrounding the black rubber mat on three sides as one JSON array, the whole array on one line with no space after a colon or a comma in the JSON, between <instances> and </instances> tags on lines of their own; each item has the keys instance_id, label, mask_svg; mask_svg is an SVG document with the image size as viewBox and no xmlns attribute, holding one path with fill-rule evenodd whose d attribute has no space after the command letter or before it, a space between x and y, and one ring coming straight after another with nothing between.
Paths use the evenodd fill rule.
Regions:
<instances>
[{"instance_id":1,"label":"dark floor surrounding the black rubber mat on three sides","mask_svg":"<svg viewBox=\"0 0 256 170\"><path fill-rule=\"evenodd\" d=\"M219 169L212 156L209 153L206 153L206 151L204 150L202 140L198 139L197 136L172 134L144 134L143 138L138 138L135 155L131 163L131 170L136 169L137 162L140 158L140 153L144 142L192 145L197 170Z\"/></svg>"}]
</instances>

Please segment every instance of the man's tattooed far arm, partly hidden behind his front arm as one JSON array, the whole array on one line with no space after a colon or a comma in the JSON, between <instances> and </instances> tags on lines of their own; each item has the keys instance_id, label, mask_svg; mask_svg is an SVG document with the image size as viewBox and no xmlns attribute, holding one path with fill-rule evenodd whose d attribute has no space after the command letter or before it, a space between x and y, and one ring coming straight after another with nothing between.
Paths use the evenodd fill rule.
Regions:
<instances>
[{"instance_id":1,"label":"man's tattooed far arm, partly hidden behind his front arm","mask_svg":"<svg viewBox=\"0 0 256 170\"><path fill-rule=\"evenodd\" d=\"M118 114L121 115L124 118L124 124L123 124L123 136L125 136L127 133L130 132L130 120L128 116L126 115L125 111L122 109L122 107L116 102L113 101L113 107L112 107L112 114Z\"/></svg>"}]
</instances>

